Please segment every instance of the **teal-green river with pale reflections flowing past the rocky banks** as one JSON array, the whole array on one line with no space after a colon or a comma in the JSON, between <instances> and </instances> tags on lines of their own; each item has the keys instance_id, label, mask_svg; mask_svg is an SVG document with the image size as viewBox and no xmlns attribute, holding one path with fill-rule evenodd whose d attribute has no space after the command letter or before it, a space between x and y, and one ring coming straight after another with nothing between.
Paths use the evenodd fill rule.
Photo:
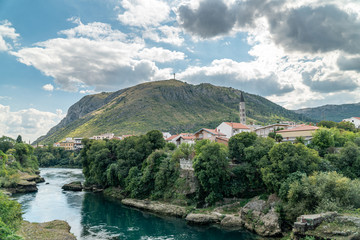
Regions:
<instances>
[{"instance_id":1,"label":"teal-green river with pale reflections flowing past the rocky banks","mask_svg":"<svg viewBox=\"0 0 360 240\"><path fill-rule=\"evenodd\" d=\"M18 194L23 218L30 222L65 220L77 239L256 239L254 234L216 227L192 227L183 219L163 218L123 206L101 193L67 192L61 187L84 181L81 169L43 168L46 183L36 193Z\"/></svg>"}]
</instances>

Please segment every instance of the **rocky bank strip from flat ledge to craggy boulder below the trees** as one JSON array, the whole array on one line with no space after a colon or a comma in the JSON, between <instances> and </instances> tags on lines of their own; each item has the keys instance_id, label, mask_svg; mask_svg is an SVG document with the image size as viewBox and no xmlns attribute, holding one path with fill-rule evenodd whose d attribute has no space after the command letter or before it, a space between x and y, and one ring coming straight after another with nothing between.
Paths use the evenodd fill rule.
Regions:
<instances>
[{"instance_id":1,"label":"rocky bank strip from flat ledge to craggy boulder below the trees","mask_svg":"<svg viewBox=\"0 0 360 240\"><path fill-rule=\"evenodd\" d=\"M281 236L279 214L275 211L278 198L271 195L267 201L256 197L245 206L226 211L226 206L212 210L190 209L169 203L148 200L123 199L122 204L156 214L184 218L189 224L217 224L231 230L248 229L264 237ZM234 204L231 204L234 205Z\"/></svg>"}]
</instances>

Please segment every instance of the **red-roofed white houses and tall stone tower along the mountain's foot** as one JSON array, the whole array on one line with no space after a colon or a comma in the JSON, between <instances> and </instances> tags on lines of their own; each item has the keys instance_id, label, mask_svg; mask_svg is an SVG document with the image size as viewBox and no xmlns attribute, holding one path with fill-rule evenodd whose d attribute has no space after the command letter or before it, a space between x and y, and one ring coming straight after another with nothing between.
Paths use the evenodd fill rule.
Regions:
<instances>
[{"instance_id":1,"label":"red-roofed white houses and tall stone tower along the mountain's foot","mask_svg":"<svg viewBox=\"0 0 360 240\"><path fill-rule=\"evenodd\" d=\"M255 132L259 137L268 137L270 133L280 135L279 141L281 142L295 142L297 138L302 138L304 144L310 143L313 133L319 129L317 126L297 124L295 122L284 121L274 123L266 126L246 124L246 104L244 96L241 94L239 103L239 116L240 123L237 122L222 122L215 129L201 128L195 133L179 133L171 135L169 132L163 132L163 137L166 142L174 143L179 146L182 143L194 144L196 140L208 139L210 141L223 143L228 145L229 139L241 132ZM356 128L360 127L360 117L352 117L344 119L345 122L350 122L355 125ZM117 139L123 140L126 137L133 135L121 135L115 136L113 133L104 133L101 135L95 135L89 139L93 140L105 140L105 139ZM82 137L66 138L64 141L56 142L54 147L62 147L65 150L74 151L83 148L81 143ZM38 145L37 147L42 147Z\"/></svg>"}]
</instances>

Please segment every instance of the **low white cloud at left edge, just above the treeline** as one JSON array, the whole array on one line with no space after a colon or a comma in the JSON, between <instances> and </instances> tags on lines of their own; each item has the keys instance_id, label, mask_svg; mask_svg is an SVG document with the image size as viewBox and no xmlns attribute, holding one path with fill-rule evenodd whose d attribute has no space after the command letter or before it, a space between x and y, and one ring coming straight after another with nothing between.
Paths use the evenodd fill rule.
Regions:
<instances>
[{"instance_id":1,"label":"low white cloud at left edge, just above the treeline","mask_svg":"<svg viewBox=\"0 0 360 240\"><path fill-rule=\"evenodd\" d=\"M12 112L9 106L0 104L0 136L16 138L19 134L24 141L35 141L58 124L65 114L42 112L34 108Z\"/></svg>"}]
</instances>

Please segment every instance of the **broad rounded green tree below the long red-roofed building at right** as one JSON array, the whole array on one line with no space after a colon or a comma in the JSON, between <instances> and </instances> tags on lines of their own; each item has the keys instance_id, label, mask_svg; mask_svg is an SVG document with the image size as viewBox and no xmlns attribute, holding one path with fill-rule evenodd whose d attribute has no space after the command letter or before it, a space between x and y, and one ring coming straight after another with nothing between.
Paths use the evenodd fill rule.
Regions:
<instances>
[{"instance_id":1,"label":"broad rounded green tree below the long red-roofed building at right","mask_svg":"<svg viewBox=\"0 0 360 240\"><path fill-rule=\"evenodd\" d=\"M279 193L282 182L291 173L311 174L319 169L321 158L318 153L303 144L279 143L272 147L268 158L260 162L261 174L268 190Z\"/></svg>"}]
</instances>

